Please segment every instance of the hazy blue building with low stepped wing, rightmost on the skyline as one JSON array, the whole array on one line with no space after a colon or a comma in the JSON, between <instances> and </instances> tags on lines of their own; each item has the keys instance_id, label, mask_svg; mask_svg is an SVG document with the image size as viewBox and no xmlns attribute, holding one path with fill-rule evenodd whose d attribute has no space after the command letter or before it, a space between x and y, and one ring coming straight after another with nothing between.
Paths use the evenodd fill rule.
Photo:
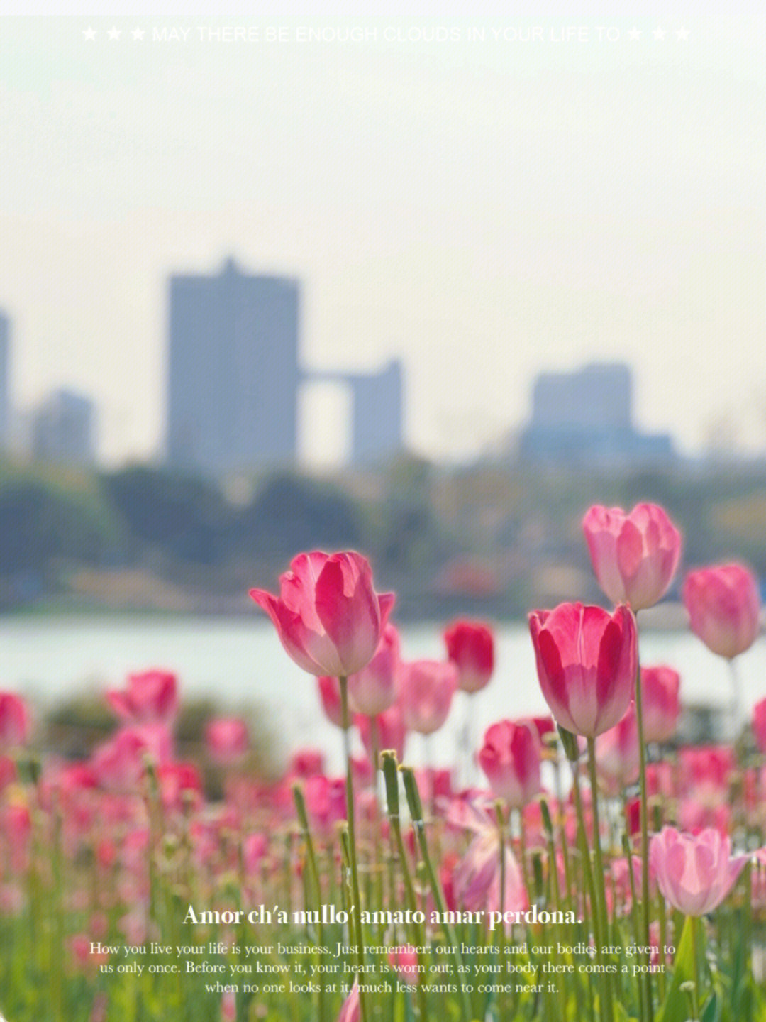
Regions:
<instances>
[{"instance_id":1,"label":"hazy blue building with low stepped wing, rightmost on the skyline","mask_svg":"<svg viewBox=\"0 0 766 1022\"><path fill-rule=\"evenodd\" d=\"M542 373L532 390L532 418L521 436L526 461L614 464L667 461L667 433L633 426L633 380L622 363L593 363L571 373Z\"/></svg>"}]
</instances>

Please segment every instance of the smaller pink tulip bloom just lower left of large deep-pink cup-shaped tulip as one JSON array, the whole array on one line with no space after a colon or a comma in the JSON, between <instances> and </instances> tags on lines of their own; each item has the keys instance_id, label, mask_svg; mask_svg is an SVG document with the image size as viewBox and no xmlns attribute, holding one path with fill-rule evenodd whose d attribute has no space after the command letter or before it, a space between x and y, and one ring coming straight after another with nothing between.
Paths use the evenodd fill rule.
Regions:
<instances>
[{"instance_id":1,"label":"smaller pink tulip bloom just lower left of large deep-pink cup-shaped tulip","mask_svg":"<svg viewBox=\"0 0 766 1022\"><path fill-rule=\"evenodd\" d=\"M478 760L492 791L512 809L522 809L542 791L540 743L526 724L493 724L484 735Z\"/></svg>"}]
</instances>

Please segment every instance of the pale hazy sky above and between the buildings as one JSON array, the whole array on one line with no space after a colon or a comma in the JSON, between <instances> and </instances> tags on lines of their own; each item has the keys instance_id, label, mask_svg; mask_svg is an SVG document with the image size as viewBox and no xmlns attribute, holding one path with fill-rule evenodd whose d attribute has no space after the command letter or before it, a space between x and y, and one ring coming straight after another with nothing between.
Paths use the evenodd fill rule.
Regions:
<instances>
[{"instance_id":1,"label":"pale hazy sky above and between the buildings","mask_svg":"<svg viewBox=\"0 0 766 1022\"><path fill-rule=\"evenodd\" d=\"M13 402L92 396L105 461L161 448L169 274L229 254L303 281L306 368L402 358L431 457L520 428L536 373L617 359L640 429L695 452L729 419L766 449L766 18L0 30ZM305 406L306 457L337 454Z\"/></svg>"}]
</instances>

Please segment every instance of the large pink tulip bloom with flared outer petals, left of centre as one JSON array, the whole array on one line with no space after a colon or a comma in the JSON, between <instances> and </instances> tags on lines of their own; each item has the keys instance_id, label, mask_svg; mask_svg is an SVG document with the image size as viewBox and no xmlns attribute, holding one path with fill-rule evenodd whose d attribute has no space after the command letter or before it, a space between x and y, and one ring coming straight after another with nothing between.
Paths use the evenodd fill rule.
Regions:
<instances>
[{"instance_id":1,"label":"large pink tulip bloom with flared outer petals, left of centre","mask_svg":"<svg viewBox=\"0 0 766 1022\"><path fill-rule=\"evenodd\" d=\"M280 596L250 596L274 622L288 656L309 675L347 677L375 655L394 596L379 596L361 554L299 554L280 576Z\"/></svg>"}]
</instances>

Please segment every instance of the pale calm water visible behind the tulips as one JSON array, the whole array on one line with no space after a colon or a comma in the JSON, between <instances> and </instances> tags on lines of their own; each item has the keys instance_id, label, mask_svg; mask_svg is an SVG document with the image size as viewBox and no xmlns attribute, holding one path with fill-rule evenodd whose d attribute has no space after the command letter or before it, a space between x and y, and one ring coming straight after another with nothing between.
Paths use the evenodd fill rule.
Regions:
<instances>
[{"instance_id":1,"label":"pale calm water visible behind the tulips","mask_svg":"<svg viewBox=\"0 0 766 1022\"><path fill-rule=\"evenodd\" d=\"M401 630L406 659L441 658L441 628ZM339 737L324 719L313 678L282 649L265 619L211 618L5 618L0 619L2 672L0 690L18 691L38 705L49 705L84 687L100 691L122 687L126 675L166 667L179 676L182 694L212 696L231 710L257 703L284 747L324 748L337 765ZM640 640L643 663L669 663L681 673L686 701L727 705L728 665L686 632L647 632ZM743 704L766 696L766 643L763 637L737 661ZM443 732L431 739L431 754L447 762L465 719L462 693ZM502 716L546 711L534 669L528 632L523 624L498 629L496 670L492 682L472 699L474 733ZM409 758L421 754L412 740Z\"/></svg>"}]
</instances>

